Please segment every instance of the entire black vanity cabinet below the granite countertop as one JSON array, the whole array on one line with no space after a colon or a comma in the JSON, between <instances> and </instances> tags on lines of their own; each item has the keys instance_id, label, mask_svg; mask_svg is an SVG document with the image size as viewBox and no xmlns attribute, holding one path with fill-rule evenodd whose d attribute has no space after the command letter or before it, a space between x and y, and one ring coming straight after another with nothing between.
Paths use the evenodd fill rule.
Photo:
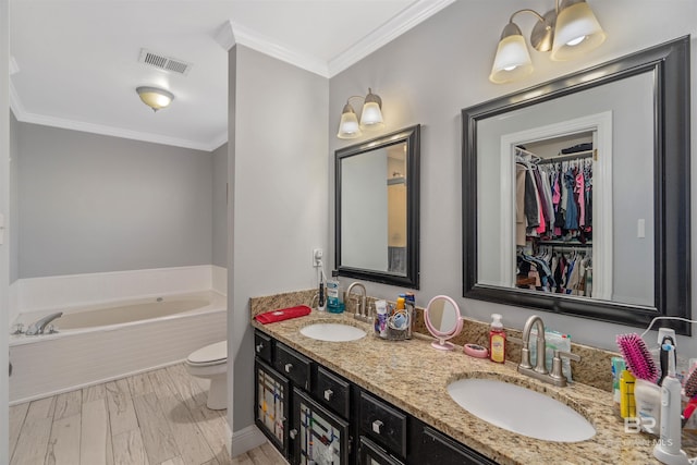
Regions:
<instances>
[{"instance_id":1,"label":"entire black vanity cabinet below the granite countertop","mask_svg":"<svg viewBox=\"0 0 697 465\"><path fill-rule=\"evenodd\" d=\"M256 424L293 465L496 464L258 330L255 344Z\"/></svg>"}]
</instances>

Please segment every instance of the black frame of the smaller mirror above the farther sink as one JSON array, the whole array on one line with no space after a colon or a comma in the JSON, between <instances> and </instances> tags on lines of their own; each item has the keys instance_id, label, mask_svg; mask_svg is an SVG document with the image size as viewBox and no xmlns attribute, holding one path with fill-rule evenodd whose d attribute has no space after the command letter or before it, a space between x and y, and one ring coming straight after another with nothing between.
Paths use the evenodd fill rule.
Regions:
<instances>
[{"instance_id":1,"label":"black frame of the smaller mirror above the farther sink","mask_svg":"<svg viewBox=\"0 0 697 465\"><path fill-rule=\"evenodd\" d=\"M334 265L339 276L418 289L420 127L420 124L405 127L334 151ZM341 160L402 143L406 144L406 274L344 266L341 264Z\"/></svg>"}]
</instances>

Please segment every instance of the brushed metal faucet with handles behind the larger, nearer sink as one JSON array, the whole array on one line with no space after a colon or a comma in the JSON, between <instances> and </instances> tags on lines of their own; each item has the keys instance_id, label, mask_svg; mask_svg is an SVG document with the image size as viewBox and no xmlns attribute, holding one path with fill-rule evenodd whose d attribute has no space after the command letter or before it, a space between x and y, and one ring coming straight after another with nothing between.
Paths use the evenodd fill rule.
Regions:
<instances>
[{"instance_id":1,"label":"brushed metal faucet with handles behind the larger, nearer sink","mask_svg":"<svg viewBox=\"0 0 697 465\"><path fill-rule=\"evenodd\" d=\"M530 332L533 327L537 328L536 344L537 344L537 360L535 367L530 364ZM515 338L509 338L515 340ZM580 357L576 354L570 354L568 352L554 351L554 358L552 359L552 372L547 370L547 341L545 340L545 323L542 318L537 315L533 315L525 322L523 329L523 348L521 350L521 364L518 365L518 372L530 376L540 381L550 382L558 387L566 386L566 377L562 375L562 359L566 357L575 362L580 362Z\"/></svg>"}]
</instances>

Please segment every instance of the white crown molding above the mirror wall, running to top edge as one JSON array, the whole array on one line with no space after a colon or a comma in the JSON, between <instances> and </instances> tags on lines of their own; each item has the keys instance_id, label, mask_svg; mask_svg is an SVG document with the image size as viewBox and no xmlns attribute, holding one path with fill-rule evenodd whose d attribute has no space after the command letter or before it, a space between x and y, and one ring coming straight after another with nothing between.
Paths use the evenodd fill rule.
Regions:
<instances>
[{"instance_id":1,"label":"white crown molding above the mirror wall, running to top edge","mask_svg":"<svg viewBox=\"0 0 697 465\"><path fill-rule=\"evenodd\" d=\"M418 0L381 27L358 40L343 53L329 60L329 77L333 77L363 60L380 47L428 20L455 0Z\"/></svg>"}]
</instances>

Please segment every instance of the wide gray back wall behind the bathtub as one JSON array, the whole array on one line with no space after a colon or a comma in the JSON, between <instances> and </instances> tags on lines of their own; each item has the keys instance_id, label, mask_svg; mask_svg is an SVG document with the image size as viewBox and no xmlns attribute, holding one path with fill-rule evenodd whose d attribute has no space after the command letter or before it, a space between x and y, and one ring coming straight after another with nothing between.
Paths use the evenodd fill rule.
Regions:
<instances>
[{"instance_id":1,"label":"wide gray back wall behind the bathtub","mask_svg":"<svg viewBox=\"0 0 697 465\"><path fill-rule=\"evenodd\" d=\"M209 152L21 123L20 278L211 262Z\"/></svg>"}]
</instances>

